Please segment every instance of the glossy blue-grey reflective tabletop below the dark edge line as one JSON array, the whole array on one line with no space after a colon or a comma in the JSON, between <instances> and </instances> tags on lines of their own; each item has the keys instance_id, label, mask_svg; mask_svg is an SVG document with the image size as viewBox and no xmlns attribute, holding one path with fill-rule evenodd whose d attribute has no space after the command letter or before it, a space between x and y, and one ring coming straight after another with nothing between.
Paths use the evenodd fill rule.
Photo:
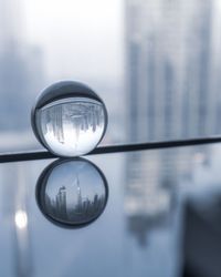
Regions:
<instances>
[{"instance_id":1,"label":"glossy blue-grey reflective tabletop below the dark edge line","mask_svg":"<svg viewBox=\"0 0 221 277\"><path fill-rule=\"evenodd\" d=\"M221 145L0 165L1 276L220 276Z\"/></svg>"}]
</instances>

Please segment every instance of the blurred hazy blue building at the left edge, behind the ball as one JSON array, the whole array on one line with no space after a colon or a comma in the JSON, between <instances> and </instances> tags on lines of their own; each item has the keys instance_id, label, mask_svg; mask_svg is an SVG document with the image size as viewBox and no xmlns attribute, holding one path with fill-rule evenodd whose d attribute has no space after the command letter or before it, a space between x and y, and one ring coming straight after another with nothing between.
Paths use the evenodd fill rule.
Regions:
<instances>
[{"instance_id":1,"label":"blurred hazy blue building at the left edge, behind the ball","mask_svg":"<svg viewBox=\"0 0 221 277\"><path fill-rule=\"evenodd\" d=\"M0 130L25 130L42 86L42 53L24 39L20 0L0 0Z\"/></svg>"}]
</instances>

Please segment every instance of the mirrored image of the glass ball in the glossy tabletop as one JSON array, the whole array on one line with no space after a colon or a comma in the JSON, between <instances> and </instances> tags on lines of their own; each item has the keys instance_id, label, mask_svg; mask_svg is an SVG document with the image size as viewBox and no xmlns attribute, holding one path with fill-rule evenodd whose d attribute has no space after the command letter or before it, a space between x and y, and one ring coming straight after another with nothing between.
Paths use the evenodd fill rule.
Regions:
<instances>
[{"instance_id":1,"label":"mirrored image of the glass ball in the glossy tabletop","mask_svg":"<svg viewBox=\"0 0 221 277\"><path fill-rule=\"evenodd\" d=\"M77 227L94 222L108 196L106 178L98 167L83 158L59 160L41 174L36 201L51 222Z\"/></svg>"}]
</instances>

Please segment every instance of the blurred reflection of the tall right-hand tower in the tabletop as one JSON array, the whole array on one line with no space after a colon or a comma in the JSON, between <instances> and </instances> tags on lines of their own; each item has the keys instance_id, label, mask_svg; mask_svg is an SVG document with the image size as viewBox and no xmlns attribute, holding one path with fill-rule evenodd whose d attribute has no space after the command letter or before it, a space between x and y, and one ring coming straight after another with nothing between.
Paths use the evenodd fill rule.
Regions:
<instances>
[{"instance_id":1,"label":"blurred reflection of the tall right-hand tower in the tabletop","mask_svg":"<svg viewBox=\"0 0 221 277\"><path fill-rule=\"evenodd\" d=\"M168 157L168 165L176 156ZM138 244L147 246L149 233L167 228L172 220L179 177L171 167L161 167L160 156L149 153L131 153L126 160L126 185L124 208L129 234ZM144 185L145 184L145 185Z\"/></svg>"}]
</instances>

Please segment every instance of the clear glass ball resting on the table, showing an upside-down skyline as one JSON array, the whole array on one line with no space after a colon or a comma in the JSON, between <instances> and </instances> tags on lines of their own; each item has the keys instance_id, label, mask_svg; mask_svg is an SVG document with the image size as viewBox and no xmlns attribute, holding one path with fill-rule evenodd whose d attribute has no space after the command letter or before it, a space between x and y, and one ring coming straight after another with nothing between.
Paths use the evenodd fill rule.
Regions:
<instances>
[{"instance_id":1,"label":"clear glass ball resting on the table, showing an upside-down skyline","mask_svg":"<svg viewBox=\"0 0 221 277\"><path fill-rule=\"evenodd\" d=\"M103 138L107 111L88 86L63 81L45 89L32 109L32 129L50 152L80 156L91 152Z\"/></svg>"}]
</instances>

